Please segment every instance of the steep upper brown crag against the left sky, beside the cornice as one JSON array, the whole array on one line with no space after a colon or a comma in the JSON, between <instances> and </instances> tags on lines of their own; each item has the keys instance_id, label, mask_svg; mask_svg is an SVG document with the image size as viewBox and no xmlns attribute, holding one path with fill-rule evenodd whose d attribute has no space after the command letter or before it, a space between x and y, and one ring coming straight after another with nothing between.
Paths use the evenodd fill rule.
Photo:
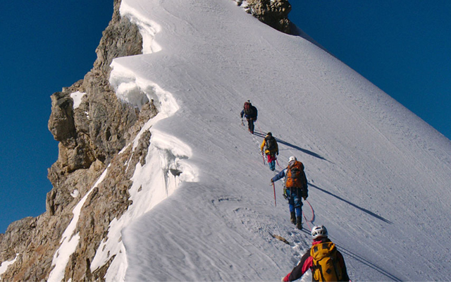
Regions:
<instances>
[{"instance_id":1,"label":"steep upper brown crag against the left sky, beside the cornice","mask_svg":"<svg viewBox=\"0 0 451 282\"><path fill-rule=\"evenodd\" d=\"M51 183L96 159L108 164L127 142L126 132L137 119L137 109L119 101L109 85L109 65L114 58L142 54L142 37L135 25L119 15L121 1L114 1L113 18L103 32L97 60L83 80L51 96L49 130L60 142L58 161L49 171ZM86 93L73 109L73 92Z\"/></svg>"}]
</instances>

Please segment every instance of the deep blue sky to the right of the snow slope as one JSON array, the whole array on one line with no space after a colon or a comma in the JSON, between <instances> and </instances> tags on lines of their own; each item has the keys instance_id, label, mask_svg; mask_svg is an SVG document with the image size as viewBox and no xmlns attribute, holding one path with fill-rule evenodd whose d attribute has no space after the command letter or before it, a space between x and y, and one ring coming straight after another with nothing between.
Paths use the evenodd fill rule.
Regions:
<instances>
[{"instance_id":1,"label":"deep blue sky to the right of the snow slope","mask_svg":"<svg viewBox=\"0 0 451 282\"><path fill-rule=\"evenodd\" d=\"M290 19L451 139L451 2L290 1Z\"/></svg>"}]
</instances>

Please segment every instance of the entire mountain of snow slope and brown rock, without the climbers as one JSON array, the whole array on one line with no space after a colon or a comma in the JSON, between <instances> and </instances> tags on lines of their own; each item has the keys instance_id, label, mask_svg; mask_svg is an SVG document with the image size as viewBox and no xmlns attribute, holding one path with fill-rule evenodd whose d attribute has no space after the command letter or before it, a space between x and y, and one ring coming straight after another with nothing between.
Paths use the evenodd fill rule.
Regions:
<instances>
[{"instance_id":1,"label":"entire mountain of snow slope and brown rock, without the climbers","mask_svg":"<svg viewBox=\"0 0 451 282\"><path fill-rule=\"evenodd\" d=\"M0 277L279 281L314 224L352 281L450 276L450 140L291 24L249 15L284 3L115 1L92 71L51 96L54 189L1 235ZM268 131L278 170L305 166L302 231L262 161Z\"/></svg>"}]
</instances>

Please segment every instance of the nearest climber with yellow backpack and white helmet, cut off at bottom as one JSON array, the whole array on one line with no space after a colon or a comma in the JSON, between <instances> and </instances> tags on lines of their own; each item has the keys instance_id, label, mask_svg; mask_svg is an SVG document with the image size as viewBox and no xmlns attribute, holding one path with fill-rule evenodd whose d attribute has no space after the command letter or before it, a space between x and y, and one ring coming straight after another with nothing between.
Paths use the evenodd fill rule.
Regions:
<instances>
[{"instance_id":1,"label":"nearest climber with yellow backpack and white helmet, cut off at bottom","mask_svg":"<svg viewBox=\"0 0 451 282\"><path fill-rule=\"evenodd\" d=\"M311 269L312 281L350 281L347 275L345 259L328 238L324 226L311 228L313 243L301 258L301 261L282 281L295 281Z\"/></svg>"}]
</instances>

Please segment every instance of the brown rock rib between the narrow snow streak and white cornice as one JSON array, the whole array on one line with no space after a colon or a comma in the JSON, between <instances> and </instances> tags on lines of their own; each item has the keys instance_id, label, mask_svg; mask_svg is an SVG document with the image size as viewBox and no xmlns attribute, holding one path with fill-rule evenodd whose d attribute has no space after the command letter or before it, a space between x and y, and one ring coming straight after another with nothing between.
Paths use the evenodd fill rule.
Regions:
<instances>
[{"instance_id":1,"label":"brown rock rib between the narrow snow streak and white cornice","mask_svg":"<svg viewBox=\"0 0 451 282\"><path fill-rule=\"evenodd\" d=\"M149 147L150 133L143 134L138 147ZM146 146L147 144L147 146ZM132 185L130 177L135 172L138 162L144 159L144 153L131 146L111 161L105 180L89 194L85 206L80 214L77 231L80 232L80 243L71 255L70 263L66 267L66 278L73 281L102 280L105 269L91 272L90 265L97 247L106 238L109 224L113 219L120 219L122 214L132 204L128 190ZM128 166L123 164L128 163ZM83 240L85 239L85 240Z\"/></svg>"}]
</instances>

